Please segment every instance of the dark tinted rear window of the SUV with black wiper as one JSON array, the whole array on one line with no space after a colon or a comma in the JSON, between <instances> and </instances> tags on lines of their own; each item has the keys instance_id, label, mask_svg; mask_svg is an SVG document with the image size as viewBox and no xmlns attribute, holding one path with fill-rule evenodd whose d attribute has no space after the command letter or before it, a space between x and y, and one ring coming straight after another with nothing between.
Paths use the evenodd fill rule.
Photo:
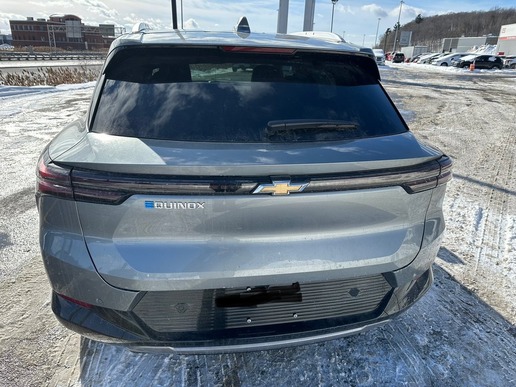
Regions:
<instances>
[{"instance_id":1,"label":"dark tinted rear window of the SUV with black wiper","mask_svg":"<svg viewBox=\"0 0 516 387\"><path fill-rule=\"evenodd\" d=\"M92 131L237 142L405 132L370 66L376 62L331 53L124 49L106 68Z\"/></svg>"}]
</instances>

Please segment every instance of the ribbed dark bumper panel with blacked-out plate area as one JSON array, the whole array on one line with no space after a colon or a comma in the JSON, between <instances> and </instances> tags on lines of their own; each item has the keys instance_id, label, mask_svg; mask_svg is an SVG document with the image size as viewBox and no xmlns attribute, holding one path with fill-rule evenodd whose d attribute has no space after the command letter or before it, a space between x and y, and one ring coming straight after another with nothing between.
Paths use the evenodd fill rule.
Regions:
<instances>
[{"instance_id":1,"label":"ribbed dark bumper panel with blacked-out plate area","mask_svg":"<svg viewBox=\"0 0 516 387\"><path fill-rule=\"evenodd\" d=\"M382 275L251 288L147 292L133 312L158 332L240 328L374 311L391 290Z\"/></svg>"}]
</instances>

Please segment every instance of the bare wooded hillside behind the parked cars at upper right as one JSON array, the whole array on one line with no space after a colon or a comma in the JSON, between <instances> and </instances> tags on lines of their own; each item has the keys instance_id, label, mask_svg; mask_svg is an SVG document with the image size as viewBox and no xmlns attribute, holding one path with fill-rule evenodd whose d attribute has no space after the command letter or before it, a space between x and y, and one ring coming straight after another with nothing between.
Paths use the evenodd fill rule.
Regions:
<instances>
[{"instance_id":1,"label":"bare wooded hillside behind the parked cars at upper right","mask_svg":"<svg viewBox=\"0 0 516 387\"><path fill-rule=\"evenodd\" d=\"M444 15L417 15L411 22L402 25L398 31L412 31L410 45L428 46L429 51L439 52L443 38L460 38L493 34L497 36L504 24L516 23L516 8L493 8L489 11L446 13ZM390 27L386 51L392 51L396 26ZM385 33L377 47L383 49ZM399 50L399 46L396 46Z\"/></svg>"}]
</instances>

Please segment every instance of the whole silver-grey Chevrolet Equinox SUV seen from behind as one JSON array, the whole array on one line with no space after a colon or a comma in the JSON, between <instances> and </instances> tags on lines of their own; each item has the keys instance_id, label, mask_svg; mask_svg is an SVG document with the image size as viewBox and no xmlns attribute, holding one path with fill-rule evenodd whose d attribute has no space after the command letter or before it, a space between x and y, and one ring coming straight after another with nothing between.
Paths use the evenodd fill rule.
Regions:
<instances>
[{"instance_id":1,"label":"whole silver-grey Chevrolet Equinox SUV seen from behind","mask_svg":"<svg viewBox=\"0 0 516 387\"><path fill-rule=\"evenodd\" d=\"M39 160L52 309L135 352L261 350L378 327L432 283L450 178L370 49L135 31L112 43L87 114Z\"/></svg>"}]
</instances>

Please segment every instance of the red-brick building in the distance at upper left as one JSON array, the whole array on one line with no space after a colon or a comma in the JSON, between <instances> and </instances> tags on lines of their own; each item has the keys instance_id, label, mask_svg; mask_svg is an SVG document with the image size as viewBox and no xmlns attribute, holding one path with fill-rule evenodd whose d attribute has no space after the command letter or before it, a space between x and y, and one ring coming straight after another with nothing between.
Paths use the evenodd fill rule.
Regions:
<instances>
[{"instance_id":1,"label":"red-brick building in the distance at upper left","mask_svg":"<svg viewBox=\"0 0 516 387\"><path fill-rule=\"evenodd\" d=\"M14 46L54 46L61 49L107 49L125 28L112 24L84 25L76 15L53 14L48 20L9 20ZM49 27L51 26L51 27Z\"/></svg>"}]
</instances>

